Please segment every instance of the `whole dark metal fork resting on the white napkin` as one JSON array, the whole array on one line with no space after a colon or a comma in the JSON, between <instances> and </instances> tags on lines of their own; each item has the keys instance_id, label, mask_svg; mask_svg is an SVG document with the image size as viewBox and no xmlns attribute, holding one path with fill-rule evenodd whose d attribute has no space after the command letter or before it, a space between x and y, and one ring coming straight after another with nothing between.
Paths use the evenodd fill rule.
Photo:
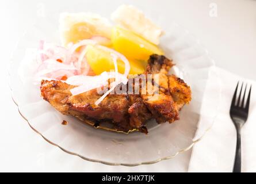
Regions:
<instances>
[{"instance_id":1,"label":"whole dark metal fork resting on the white napkin","mask_svg":"<svg viewBox=\"0 0 256 184\"><path fill-rule=\"evenodd\" d=\"M238 85L239 85L239 82L238 82ZM250 87L250 91L247 96L246 104L244 104L246 88L247 88L247 85L246 85L246 87L244 89L244 93L243 93L242 102L240 101L242 89L243 89L243 83L242 83L242 87L240 89L240 93L239 93L239 96L238 96L238 99L236 102L236 94L238 91L238 85L236 85L235 93L233 95L231 107L230 107L230 117L231 117L232 121L234 122L235 129L236 129L236 151L235 151L235 162L234 162L233 173L241 172L241 136L240 136L240 131L241 131L241 128L243 127L243 125L245 124L248 114L249 114L250 95L251 95L251 87Z\"/></svg>"}]
</instances>

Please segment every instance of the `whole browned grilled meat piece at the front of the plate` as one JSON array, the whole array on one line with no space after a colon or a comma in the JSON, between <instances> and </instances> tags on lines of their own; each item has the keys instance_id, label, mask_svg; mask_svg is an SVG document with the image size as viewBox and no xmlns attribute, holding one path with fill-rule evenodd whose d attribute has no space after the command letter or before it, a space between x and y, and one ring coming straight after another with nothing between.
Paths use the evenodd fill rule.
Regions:
<instances>
[{"instance_id":1,"label":"whole browned grilled meat piece at the front of the plate","mask_svg":"<svg viewBox=\"0 0 256 184\"><path fill-rule=\"evenodd\" d=\"M144 73L152 74L152 82L147 78L146 83L147 90L152 87L148 90L151 93L142 94L143 86L140 85L139 94L108 95L98 106L94 103L101 95L96 90L72 96L70 89L75 86L61 81L41 81L41 95L59 112L82 121L109 122L117 131L137 129L147 133L148 120L155 118L158 123L178 120L179 110L191 100L189 86L167 74L172 66L173 62L165 56L152 55Z\"/></svg>"}]
</instances>

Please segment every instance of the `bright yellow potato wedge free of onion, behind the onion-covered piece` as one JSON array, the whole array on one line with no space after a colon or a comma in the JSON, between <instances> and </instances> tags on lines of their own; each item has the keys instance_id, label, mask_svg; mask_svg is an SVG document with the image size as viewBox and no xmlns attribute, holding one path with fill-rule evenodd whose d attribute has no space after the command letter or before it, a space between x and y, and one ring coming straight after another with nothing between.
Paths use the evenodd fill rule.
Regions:
<instances>
[{"instance_id":1,"label":"bright yellow potato wedge free of onion, behind the onion-covered piece","mask_svg":"<svg viewBox=\"0 0 256 184\"><path fill-rule=\"evenodd\" d=\"M116 51L131 59L147 61L153 53L163 55L156 45L118 26L112 29L111 41Z\"/></svg>"}]
</instances>

